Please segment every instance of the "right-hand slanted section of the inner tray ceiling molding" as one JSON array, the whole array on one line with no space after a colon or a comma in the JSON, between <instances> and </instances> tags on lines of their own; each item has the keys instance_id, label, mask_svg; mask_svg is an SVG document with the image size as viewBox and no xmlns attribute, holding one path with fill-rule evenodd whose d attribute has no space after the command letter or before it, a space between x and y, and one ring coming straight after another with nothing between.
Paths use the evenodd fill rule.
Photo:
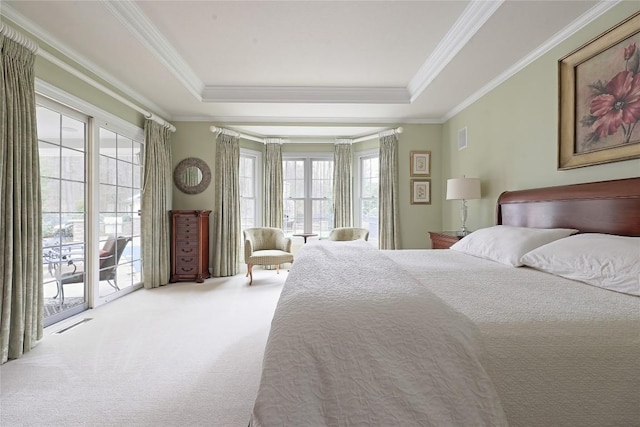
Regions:
<instances>
[{"instance_id":1,"label":"right-hand slanted section of the inner tray ceiling molding","mask_svg":"<svg viewBox=\"0 0 640 427\"><path fill-rule=\"evenodd\" d=\"M465 8L456 23L449 29L433 53L427 58L427 61L409 82L407 89L411 94L411 102L415 101L444 67L455 58L491 15L498 10L503 1L473 0Z\"/></svg>"}]
</instances>

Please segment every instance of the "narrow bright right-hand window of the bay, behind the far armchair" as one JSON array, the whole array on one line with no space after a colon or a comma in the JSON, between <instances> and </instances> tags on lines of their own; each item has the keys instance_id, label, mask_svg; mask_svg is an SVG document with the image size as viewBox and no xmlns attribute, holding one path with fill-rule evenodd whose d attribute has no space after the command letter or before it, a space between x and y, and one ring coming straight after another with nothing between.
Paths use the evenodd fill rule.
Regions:
<instances>
[{"instance_id":1,"label":"narrow bright right-hand window of the bay, behind the far armchair","mask_svg":"<svg viewBox=\"0 0 640 427\"><path fill-rule=\"evenodd\" d=\"M356 191L356 225L369 230L369 241L378 241L378 188L380 183L380 154L378 150L356 153L358 159Z\"/></svg>"}]
</instances>

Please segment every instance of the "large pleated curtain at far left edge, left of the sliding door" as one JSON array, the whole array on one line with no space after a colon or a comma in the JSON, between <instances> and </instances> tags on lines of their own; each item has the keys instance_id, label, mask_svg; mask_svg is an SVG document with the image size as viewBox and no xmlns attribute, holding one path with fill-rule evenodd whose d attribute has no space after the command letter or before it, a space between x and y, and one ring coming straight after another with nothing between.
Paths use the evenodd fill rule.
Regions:
<instances>
[{"instance_id":1,"label":"large pleated curtain at far left edge, left of the sliding door","mask_svg":"<svg viewBox=\"0 0 640 427\"><path fill-rule=\"evenodd\" d=\"M0 34L1 363L43 335L42 201L35 55Z\"/></svg>"}]
</instances>

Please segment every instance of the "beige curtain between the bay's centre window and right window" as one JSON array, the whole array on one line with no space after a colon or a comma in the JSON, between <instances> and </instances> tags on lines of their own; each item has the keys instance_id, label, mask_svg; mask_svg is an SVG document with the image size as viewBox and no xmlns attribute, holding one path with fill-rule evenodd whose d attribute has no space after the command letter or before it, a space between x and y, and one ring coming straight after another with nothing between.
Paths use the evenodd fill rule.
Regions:
<instances>
[{"instance_id":1,"label":"beige curtain between the bay's centre window and right window","mask_svg":"<svg viewBox=\"0 0 640 427\"><path fill-rule=\"evenodd\" d=\"M351 227L353 150L351 140L337 140L333 151L333 226Z\"/></svg>"}]
</instances>

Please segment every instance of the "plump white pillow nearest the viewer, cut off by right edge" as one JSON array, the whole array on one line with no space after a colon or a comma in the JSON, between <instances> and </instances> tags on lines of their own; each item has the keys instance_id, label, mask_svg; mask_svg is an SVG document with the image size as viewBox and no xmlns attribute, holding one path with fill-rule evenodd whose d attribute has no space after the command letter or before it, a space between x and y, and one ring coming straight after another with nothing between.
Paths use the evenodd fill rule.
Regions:
<instances>
[{"instance_id":1,"label":"plump white pillow nearest the viewer, cut off by right edge","mask_svg":"<svg viewBox=\"0 0 640 427\"><path fill-rule=\"evenodd\" d=\"M525 254L522 263L593 286L640 295L640 237L578 234Z\"/></svg>"}]
</instances>

